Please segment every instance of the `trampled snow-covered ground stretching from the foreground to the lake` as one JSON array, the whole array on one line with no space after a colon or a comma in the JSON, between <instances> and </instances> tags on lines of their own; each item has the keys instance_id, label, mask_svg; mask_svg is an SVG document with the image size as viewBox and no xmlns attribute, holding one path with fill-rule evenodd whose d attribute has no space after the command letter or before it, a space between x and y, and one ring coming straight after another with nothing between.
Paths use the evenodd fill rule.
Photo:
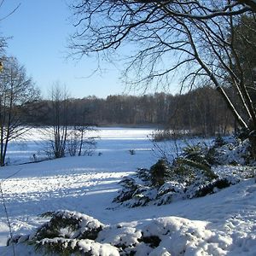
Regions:
<instances>
[{"instance_id":1,"label":"trampled snow-covered ground stretching from the foreground to the lake","mask_svg":"<svg viewBox=\"0 0 256 256\"><path fill-rule=\"evenodd\" d=\"M98 132L102 138L92 156L1 168L0 181L13 233L29 234L44 223L39 214L67 209L90 215L103 224L120 224L123 228L119 230L126 234L127 242L137 241L142 232L160 237L160 245L153 251L139 247L136 255L147 255L147 252L150 255L256 255L253 179L214 195L166 206L125 208L113 204L121 177L135 172L137 167L148 168L157 160L147 138L151 132L150 129L106 128ZM26 143L13 144L10 162L31 160L33 154L38 154L40 138L37 131L32 131ZM136 154L131 155L130 149ZM164 230L169 230L168 236ZM124 239L117 231L104 232L99 238L102 242L118 240L121 236ZM8 236L1 199L0 255L13 255L12 249L5 247ZM16 255L33 253L17 247Z\"/></svg>"}]
</instances>

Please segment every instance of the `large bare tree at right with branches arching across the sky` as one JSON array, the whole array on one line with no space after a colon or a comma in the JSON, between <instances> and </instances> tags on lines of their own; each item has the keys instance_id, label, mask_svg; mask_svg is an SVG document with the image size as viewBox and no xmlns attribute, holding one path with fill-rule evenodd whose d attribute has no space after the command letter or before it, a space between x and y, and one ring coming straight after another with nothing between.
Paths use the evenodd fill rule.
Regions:
<instances>
[{"instance_id":1,"label":"large bare tree at right with branches arching across the sky","mask_svg":"<svg viewBox=\"0 0 256 256\"><path fill-rule=\"evenodd\" d=\"M178 76L183 74L182 88L205 84L208 80L240 126L256 130L255 106L235 47L235 28L242 15L253 19L255 1L85 0L73 3L77 21L71 44L74 54L81 57L102 53L108 58L129 43L133 54L125 73L131 81L126 82L143 88L150 84L167 86L173 72ZM255 20L251 30L255 33ZM247 40L255 45L251 38ZM237 108L225 91L227 77L242 108ZM250 87L255 88L255 84Z\"/></svg>"}]
</instances>

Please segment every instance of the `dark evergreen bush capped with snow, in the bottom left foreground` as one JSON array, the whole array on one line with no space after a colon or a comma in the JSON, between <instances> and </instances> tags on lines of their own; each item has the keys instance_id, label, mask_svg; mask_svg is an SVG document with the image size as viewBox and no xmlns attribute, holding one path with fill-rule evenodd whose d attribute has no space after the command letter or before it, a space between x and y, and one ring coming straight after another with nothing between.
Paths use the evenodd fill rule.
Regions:
<instances>
[{"instance_id":1,"label":"dark evergreen bush capped with snow, in the bottom left foreground","mask_svg":"<svg viewBox=\"0 0 256 256\"><path fill-rule=\"evenodd\" d=\"M36 251L43 253L61 253L61 255L107 255L102 251L119 255L111 245L97 243L98 233L105 227L95 218L79 212L58 211L45 212L42 217L50 218L30 236L14 236L8 245L26 242Z\"/></svg>"}]
</instances>

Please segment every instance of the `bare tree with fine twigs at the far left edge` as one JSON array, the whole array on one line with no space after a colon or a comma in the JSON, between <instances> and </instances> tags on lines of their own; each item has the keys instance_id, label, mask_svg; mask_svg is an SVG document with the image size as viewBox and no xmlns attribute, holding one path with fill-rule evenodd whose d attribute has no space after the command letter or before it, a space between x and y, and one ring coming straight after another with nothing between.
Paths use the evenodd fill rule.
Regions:
<instances>
[{"instance_id":1,"label":"bare tree with fine twigs at the far left edge","mask_svg":"<svg viewBox=\"0 0 256 256\"><path fill-rule=\"evenodd\" d=\"M0 75L0 165L5 165L9 142L21 137L31 127L24 122L26 104L38 100L39 90L26 70L13 58L3 58Z\"/></svg>"}]
</instances>

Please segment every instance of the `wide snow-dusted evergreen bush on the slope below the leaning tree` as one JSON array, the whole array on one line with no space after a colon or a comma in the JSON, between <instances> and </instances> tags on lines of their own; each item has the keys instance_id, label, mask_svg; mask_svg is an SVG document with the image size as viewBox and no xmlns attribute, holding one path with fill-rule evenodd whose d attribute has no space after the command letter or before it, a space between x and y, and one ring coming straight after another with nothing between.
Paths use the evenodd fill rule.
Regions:
<instances>
[{"instance_id":1,"label":"wide snow-dusted evergreen bush on the slope below the leaning tree","mask_svg":"<svg viewBox=\"0 0 256 256\"><path fill-rule=\"evenodd\" d=\"M218 165L253 165L249 147L248 140L235 137L217 137L211 147L204 143L188 145L172 163L160 159L149 170L138 169L135 175L124 177L120 182L123 189L113 201L127 207L138 207L212 194L238 183L241 177L253 176L253 169L249 167L244 175L216 172Z\"/></svg>"}]
</instances>

